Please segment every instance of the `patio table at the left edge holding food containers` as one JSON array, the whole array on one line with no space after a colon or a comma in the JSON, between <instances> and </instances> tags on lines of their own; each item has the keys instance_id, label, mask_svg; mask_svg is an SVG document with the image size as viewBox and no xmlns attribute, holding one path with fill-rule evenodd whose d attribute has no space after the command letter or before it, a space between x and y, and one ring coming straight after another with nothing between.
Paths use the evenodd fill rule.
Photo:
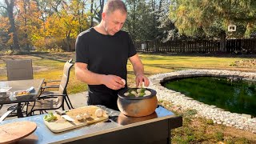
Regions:
<instances>
[{"instance_id":1,"label":"patio table at the left edge holding food containers","mask_svg":"<svg viewBox=\"0 0 256 144\"><path fill-rule=\"evenodd\" d=\"M38 94L41 90L42 83L44 79L27 79L27 80L17 80L17 81L3 81L0 82L1 87L11 87L7 94L0 95L0 105L18 103L17 115L18 118L22 118L22 102L34 102L38 98ZM14 97L15 91L23 91L29 89L31 86L34 87L34 92L24 96Z\"/></svg>"}]
</instances>

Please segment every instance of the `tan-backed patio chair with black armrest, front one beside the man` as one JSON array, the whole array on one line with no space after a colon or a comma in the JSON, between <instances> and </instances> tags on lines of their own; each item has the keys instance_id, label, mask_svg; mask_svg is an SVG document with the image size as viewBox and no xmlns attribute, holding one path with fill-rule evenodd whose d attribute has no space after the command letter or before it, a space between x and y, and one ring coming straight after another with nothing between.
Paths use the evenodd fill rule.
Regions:
<instances>
[{"instance_id":1,"label":"tan-backed patio chair with black armrest, front one beside the man","mask_svg":"<svg viewBox=\"0 0 256 144\"><path fill-rule=\"evenodd\" d=\"M30 102L26 106L26 115L34 114L34 111L39 111L43 114L46 110L57 110L62 107L64 110L64 99L66 98L65 90L70 78L70 69L74 64L66 62L64 65L64 72L60 85L58 87L58 94L42 94L35 102Z\"/></svg>"}]
</instances>

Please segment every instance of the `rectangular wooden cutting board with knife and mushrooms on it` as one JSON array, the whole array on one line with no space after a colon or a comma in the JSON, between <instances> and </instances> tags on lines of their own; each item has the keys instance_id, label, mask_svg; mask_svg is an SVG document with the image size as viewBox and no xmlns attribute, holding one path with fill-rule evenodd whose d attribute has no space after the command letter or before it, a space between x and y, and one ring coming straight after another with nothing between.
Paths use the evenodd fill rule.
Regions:
<instances>
[{"instance_id":1,"label":"rectangular wooden cutting board with knife and mushrooms on it","mask_svg":"<svg viewBox=\"0 0 256 144\"><path fill-rule=\"evenodd\" d=\"M62 118L58 114L54 114L58 119L53 121L53 122L45 122L46 126L54 133L60 133L62 131L66 130L71 130L80 126L86 126L90 125L95 122L105 122L108 120L109 116L106 114L106 111L104 111L103 116L98 118L95 115L95 111L99 109L98 106L84 106L84 107L79 107L73 110L69 110L66 112L67 115L69 115L71 118L75 119L74 122L68 122L66 119ZM76 120L76 116L78 114L85 114L85 113L90 114L90 118L82 121Z\"/></svg>"}]
</instances>

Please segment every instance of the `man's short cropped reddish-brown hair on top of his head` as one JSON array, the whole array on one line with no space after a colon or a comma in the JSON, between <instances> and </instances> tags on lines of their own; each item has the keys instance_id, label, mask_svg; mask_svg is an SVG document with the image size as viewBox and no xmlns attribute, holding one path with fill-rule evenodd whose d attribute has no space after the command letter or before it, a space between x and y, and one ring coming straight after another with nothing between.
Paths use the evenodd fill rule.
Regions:
<instances>
[{"instance_id":1,"label":"man's short cropped reddish-brown hair on top of his head","mask_svg":"<svg viewBox=\"0 0 256 144\"><path fill-rule=\"evenodd\" d=\"M127 14L126 5L121 0L108 0L103 8L103 12L111 14L115 10L120 10L122 14Z\"/></svg>"}]
</instances>

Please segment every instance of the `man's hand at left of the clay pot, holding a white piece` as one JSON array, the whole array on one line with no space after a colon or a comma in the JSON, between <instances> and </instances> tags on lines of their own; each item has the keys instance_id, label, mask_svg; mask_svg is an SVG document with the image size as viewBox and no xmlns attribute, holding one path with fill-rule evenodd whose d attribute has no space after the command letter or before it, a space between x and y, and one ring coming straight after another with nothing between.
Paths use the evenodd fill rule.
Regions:
<instances>
[{"instance_id":1,"label":"man's hand at left of the clay pot, holding a white piece","mask_svg":"<svg viewBox=\"0 0 256 144\"><path fill-rule=\"evenodd\" d=\"M119 90L125 87L125 83L122 82L122 78L116 75L105 75L102 79L102 83L112 90Z\"/></svg>"}]
</instances>

